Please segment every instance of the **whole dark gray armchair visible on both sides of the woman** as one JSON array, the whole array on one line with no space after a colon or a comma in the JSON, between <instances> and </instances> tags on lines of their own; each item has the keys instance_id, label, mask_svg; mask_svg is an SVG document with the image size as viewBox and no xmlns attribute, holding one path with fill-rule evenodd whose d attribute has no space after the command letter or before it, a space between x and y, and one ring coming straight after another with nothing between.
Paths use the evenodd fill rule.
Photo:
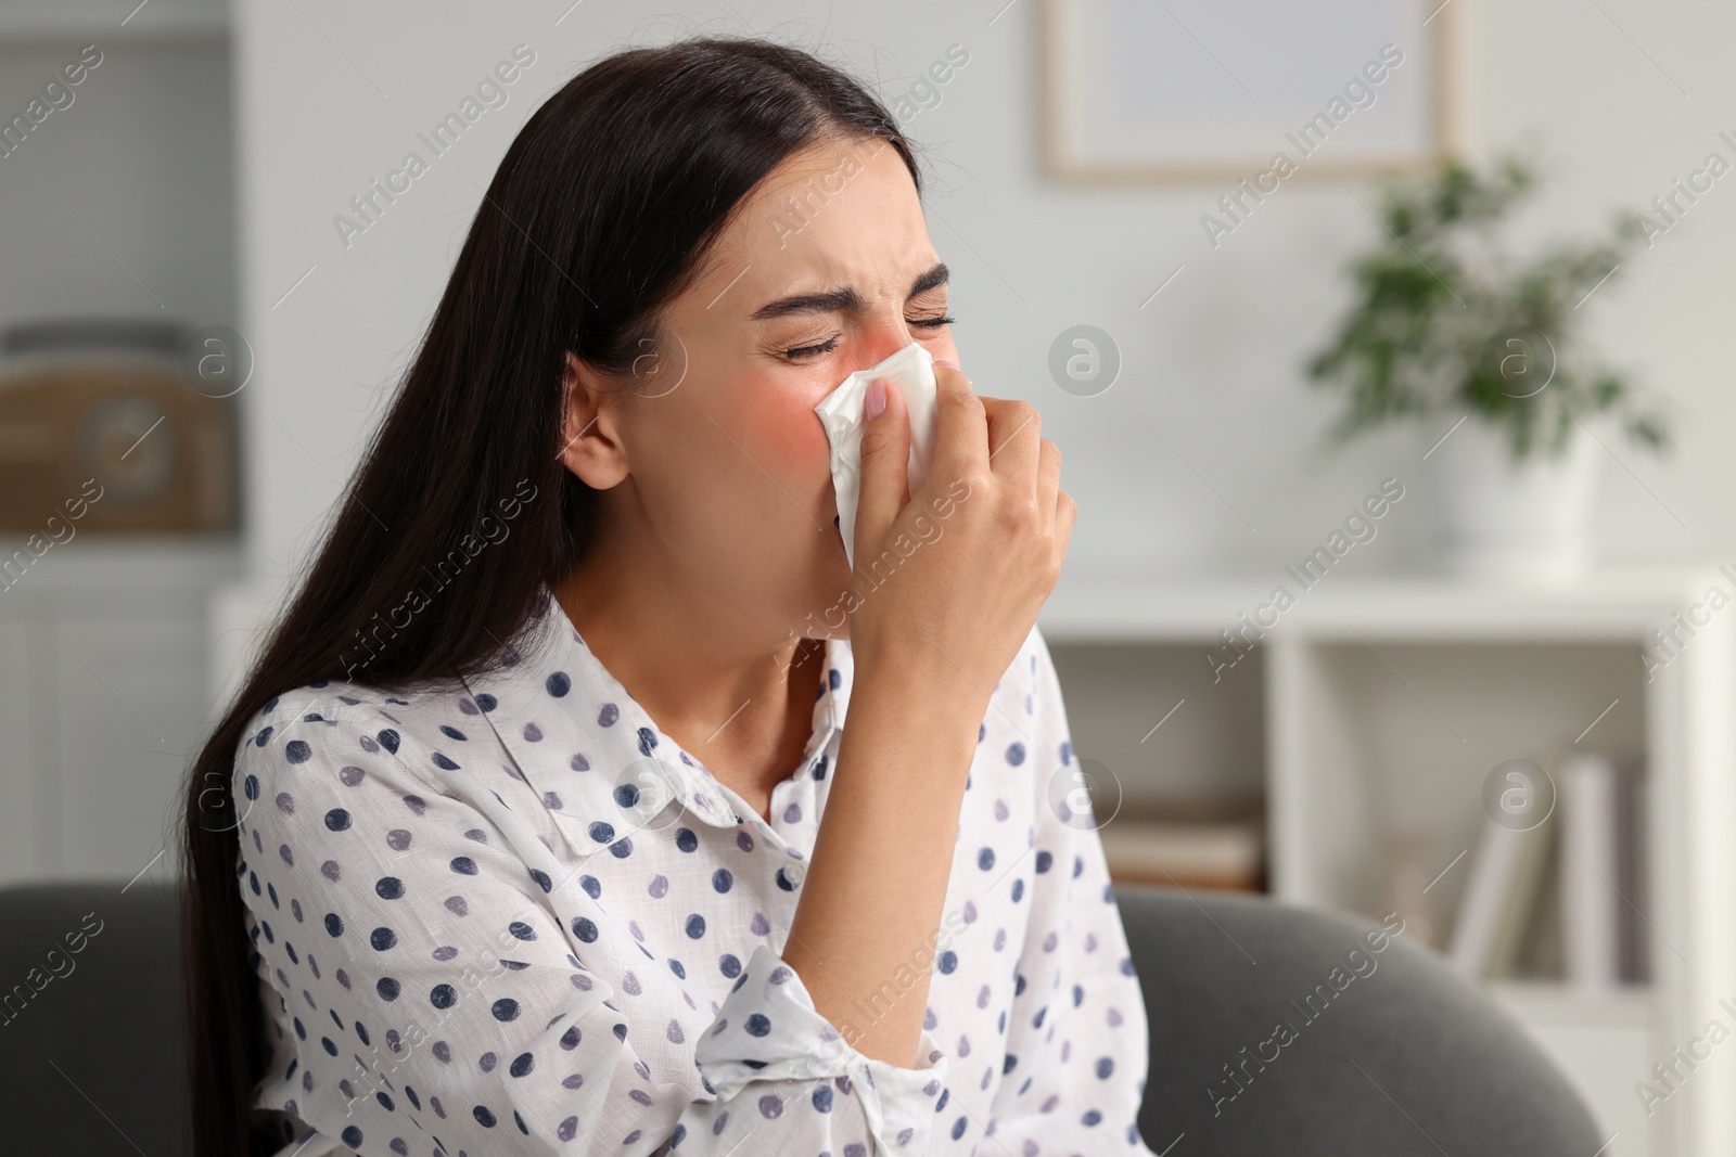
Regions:
<instances>
[{"instance_id":1,"label":"whole dark gray armchair visible on both sides of the woman","mask_svg":"<svg viewBox=\"0 0 1736 1157\"><path fill-rule=\"evenodd\" d=\"M1403 933L1375 952L1373 925L1266 900L1116 900L1151 1016L1139 1126L1154 1152L1597 1152L1519 1025ZM189 1154L174 888L7 888L0 928L7 1152Z\"/></svg>"}]
</instances>

